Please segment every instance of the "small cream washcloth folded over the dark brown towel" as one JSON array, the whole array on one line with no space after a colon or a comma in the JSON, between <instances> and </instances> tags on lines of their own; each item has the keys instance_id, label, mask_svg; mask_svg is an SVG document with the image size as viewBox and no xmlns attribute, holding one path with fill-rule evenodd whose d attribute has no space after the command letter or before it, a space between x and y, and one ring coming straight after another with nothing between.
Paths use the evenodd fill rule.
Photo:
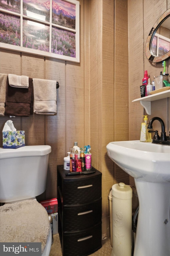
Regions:
<instances>
[{"instance_id":1,"label":"small cream washcloth folded over the dark brown towel","mask_svg":"<svg viewBox=\"0 0 170 256\"><path fill-rule=\"evenodd\" d=\"M17 76L8 74L9 85L17 88L28 88L29 77L28 76Z\"/></svg>"}]
</instances>

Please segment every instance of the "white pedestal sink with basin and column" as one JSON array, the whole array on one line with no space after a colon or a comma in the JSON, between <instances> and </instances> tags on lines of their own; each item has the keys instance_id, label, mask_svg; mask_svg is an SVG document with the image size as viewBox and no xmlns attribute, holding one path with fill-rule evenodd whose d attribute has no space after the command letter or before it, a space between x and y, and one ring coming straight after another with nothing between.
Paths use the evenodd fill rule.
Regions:
<instances>
[{"instance_id":1,"label":"white pedestal sink with basin and column","mask_svg":"<svg viewBox=\"0 0 170 256\"><path fill-rule=\"evenodd\" d=\"M134 256L170 255L170 146L110 142L108 156L134 177L139 213Z\"/></svg>"}]
</instances>

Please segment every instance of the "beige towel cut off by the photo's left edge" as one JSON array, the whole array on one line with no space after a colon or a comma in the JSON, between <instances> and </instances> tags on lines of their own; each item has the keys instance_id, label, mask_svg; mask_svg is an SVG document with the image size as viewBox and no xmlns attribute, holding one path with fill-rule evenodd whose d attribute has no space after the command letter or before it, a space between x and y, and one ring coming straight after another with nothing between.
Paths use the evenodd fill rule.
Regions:
<instances>
[{"instance_id":1,"label":"beige towel cut off by the photo's left edge","mask_svg":"<svg viewBox=\"0 0 170 256\"><path fill-rule=\"evenodd\" d=\"M0 115L5 115L7 74L0 74Z\"/></svg>"}]
</instances>

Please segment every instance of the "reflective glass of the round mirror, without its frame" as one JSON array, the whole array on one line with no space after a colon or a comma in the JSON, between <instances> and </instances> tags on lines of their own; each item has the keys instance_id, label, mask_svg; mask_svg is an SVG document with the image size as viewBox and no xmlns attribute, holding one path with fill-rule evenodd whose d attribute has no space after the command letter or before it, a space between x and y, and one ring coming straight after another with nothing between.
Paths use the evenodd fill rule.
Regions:
<instances>
[{"instance_id":1,"label":"reflective glass of the round mirror, without its frame","mask_svg":"<svg viewBox=\"0 0 170 256\"><path fill-rule=\"evenodd\" d=\"M170 50L170 16L167 17L155 31L151 42L150 52L158 57L166 54Z\"/></svg>"}]
</instances>

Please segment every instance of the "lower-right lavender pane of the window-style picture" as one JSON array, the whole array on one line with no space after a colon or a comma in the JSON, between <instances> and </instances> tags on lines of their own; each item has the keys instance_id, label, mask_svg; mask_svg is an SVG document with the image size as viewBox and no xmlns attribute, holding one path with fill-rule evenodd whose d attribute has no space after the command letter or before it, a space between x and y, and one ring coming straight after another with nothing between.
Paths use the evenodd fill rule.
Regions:
<instances>
[{"instance_id":1,"label":"lower-right lavender pane of the window-style picture","mask_svg":"<svg viewBox=\"0 0 170 256\"><path fill-rule=\"evenodd\" d=\"M75 33L52 27L51 52L75 58Z\"/></svg>"}]
</instances>

